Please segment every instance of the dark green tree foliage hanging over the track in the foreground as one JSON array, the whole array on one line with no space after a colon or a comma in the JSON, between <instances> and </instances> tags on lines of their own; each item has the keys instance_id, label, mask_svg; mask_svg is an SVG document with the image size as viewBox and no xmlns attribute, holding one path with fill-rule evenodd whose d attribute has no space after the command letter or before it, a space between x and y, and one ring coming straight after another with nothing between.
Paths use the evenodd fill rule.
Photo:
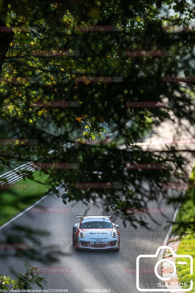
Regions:
<instances>
[{"instance_id":1,"label":"dark green tree foliage hanging over the track in the foreground","mask_svg":"<svg viewBox=\"0 0 195 293\"><path fill-rule=\"evenodd\" d=\"M168 9L175 13L169 15ZM194 101L178 84L163 83L163 76L180 72L193 76L194 33L165 31L165 25L189 25L194 19L194 5L181 1L3 1L1 25L34 26L30 32L1 33L1 77L28 77L27 83L0 84L1 138L36 138L38 145L0 146L1 166L10 161L77 162L79 169L45 170L53 185L63 183L64 202L102 198L106 210L113 210L123 219L138 220L126 214L127 207L144 207L147 199L166 197L162 183L170 176L184 176L181 154L142 151L133 144L134 127L125 129L133 115L144 130L143 108L134 113L127 101L160 101L167 97L174 107L151 108L158 125L172 114L194 123ZM75 31L77 25L115 25L118 31ZM32 50L79 50L79 56L33 56ZM128 57L127 50L166 50L169 57ZM120 83L77 83L75 76L122 76ZM177 97L174 91L179 91ZM79 107L32 107L41 101L76 101ZM75 130L86 126L82 137L95 138L103 131L101 122L115 123L126 136L129 148L115 144L78 145L63 150L74 142ZM82 127L81 127L82 125ZM53 131L50 131L52 126ZM54 131L55 130L55 131ZM48 154L55 149L56 152ZM130 151L128 151L130 150ZM164 170L127 171L127 162L165 163ZM180 170L180 173L179 173ZM182 170L182 171L181 171ZM93 171L102 172L101 178ZM32 178L32 174L29 174ZM65 181L65 183L64 183ZM76 182L120 182L123 188L75 189ZM143 183L147 182L149 188ZM142 220L138 221L146 224Z\"/></svg>"}]
</instances>

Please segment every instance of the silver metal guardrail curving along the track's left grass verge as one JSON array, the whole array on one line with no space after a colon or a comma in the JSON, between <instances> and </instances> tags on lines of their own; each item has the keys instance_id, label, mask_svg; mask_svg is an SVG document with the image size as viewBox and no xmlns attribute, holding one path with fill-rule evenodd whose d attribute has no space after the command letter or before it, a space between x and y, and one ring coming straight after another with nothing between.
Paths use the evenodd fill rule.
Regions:
<instances>
[{"instance_id":1,"label":"silver metal guardrail curving along the track's left grass verge","mask_svg":"<svg viewBox=\"0 0 195 293\"><path fill-rule=\"evenodd\" d=\"M134 117L132 120L130 120L126 125L125 125L125 128L128 129L131 127L131 125L133 124L133 121L134 121ZM107 134L106 135L106 140L107 141L110 141L111 139L117 137L119 135L119 131L116 131L114 133L111 133L111 134ZM78 141L78 140L77 140ZM76 143L77 141L75 141L75 143L72 143L72 142L68 142L67 144L64 144L63 145L63 149L64 151L70 149L70 148L73 148L75 147L76 149L78 148L78 144ZM86 142L85 144L89 144L89 145L94 145L96 144L96 141L89 141L89 142ZM52 150L52 151L49 151L48 154L52 154L55 150ZM34 161L38 160L35 159ZM23 172L23 171L36 171L38 170L39 168L34 168L32 165L33 165L33 162L34 161L30 161L22 166L19 166L18 168L15 168L11 171L8 171L7 173L3 174L0 176L0 184L4 184L4 183L14 183L16 181L18 181L19 179L27 176L27 173ZM6 181L4 181L4 179Z\"/></svg>"}]
</instances>

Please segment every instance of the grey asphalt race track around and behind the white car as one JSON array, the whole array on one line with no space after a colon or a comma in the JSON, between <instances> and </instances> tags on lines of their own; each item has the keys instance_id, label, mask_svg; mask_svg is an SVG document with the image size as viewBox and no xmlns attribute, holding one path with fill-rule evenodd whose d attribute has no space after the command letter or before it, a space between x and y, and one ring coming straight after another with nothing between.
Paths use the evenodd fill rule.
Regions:
<instances>
[{"instance_id":1,"label":"grey asphalt race track around and behind the white car","mask_svg":"<svg viewBox=\"0 0 195 293\"><path fill-rule=\"evenodd\" d=\"M152 132L138 144L143 149L160 151L166 148L165 144L162 143L163 138L194 137L194 127L189 125L188 121L182 121L182 126L179 127L180 132L177 128L177 121L175 123L165 121L158 127L154 127ZM121 146L121 148L123 147ZM179 150L193 150L193 148L194 145L178 146ZM189 175L194 163L194 155L187 151L183 152L182 155L189 159L189 163L185 166ZM170 190L168 192L170 193ZM37 207L63 207L63 203L55 193L52 193L39 202ZM157 248L163 245L170 227L168 221L172 220L176 206L167 205L161 195L159 195L158 203L149 202L148 207L161 207L165 211L164 214L145 216L151 230L141 227L134 229L131 224L125 228L121 219L113 217L112 222L120 225L118 229L120 231L120 251L118 252L76 251L72 244L72 226L78 222L75 220L75 215L107 213L100 204L91 204L89 209L81 202L70 203L66 207L69 207L69 213L33 214L31 210L28 210L0 230L1 243L4 243L8 235L11 239L11 236L21 234L23 242L25 242L24 239L26 243L39 241L31 258L29 258L29 250L0 251L0 274L14 277L14 271L24 273L24 261L27 260L28 263L36 267L68 268L67 273L40 274L47 281L44 284L45 289L68 289L70 293L98 292L98 289L100 289L99 292L139 292L136 288L136 274L131 269L136 268L138 255L155 254ZM21 229L21 227L23 228ZM29 235L32 235L31 240ZM50 259L51 257L53 259ZM130 269L127 270L127 268ZM141 278L143 288L155 288L153 286L156 286L157 282L158 280L153 273Z\"/></svg>"}]
</instances>

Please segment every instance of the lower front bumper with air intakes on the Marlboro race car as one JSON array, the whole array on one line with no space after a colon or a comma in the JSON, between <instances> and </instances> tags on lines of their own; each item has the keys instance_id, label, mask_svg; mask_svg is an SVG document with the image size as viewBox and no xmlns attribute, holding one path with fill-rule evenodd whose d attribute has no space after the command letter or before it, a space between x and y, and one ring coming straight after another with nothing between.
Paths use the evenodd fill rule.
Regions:
<instances>
[{"instance_id":1,"label":"lower front bumper with air intakes on the Marlboro race car","mask_svg":"<svg viewBox=\"0 0 195 293\"><path fill-rule=\"evenodd\" d=\"M94 241L83 241L78 240L75 243L76 249L91 249L91 250L100 250L100 249L118 249L120 247L119 239L108 241L103 241L103 244L94 244Z\"/></svg>"}]
</instances>

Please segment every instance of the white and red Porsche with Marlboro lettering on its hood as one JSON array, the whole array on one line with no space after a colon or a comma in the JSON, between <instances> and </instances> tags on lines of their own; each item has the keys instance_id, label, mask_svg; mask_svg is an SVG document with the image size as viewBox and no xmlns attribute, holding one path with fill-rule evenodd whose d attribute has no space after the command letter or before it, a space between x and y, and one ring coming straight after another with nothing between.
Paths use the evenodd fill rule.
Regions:
<instances>
[{"instance_id":1,"label":"white and red Porsche with Marlboro lettering on its hood","mask_svg":"<svg viewBox=\"0 0 195 293\"><path fill-rule=\"evenodd\" d=\"M119 225L112 216L75 216L80 223L73 226L73 244L76 249L120 249Z\"/></svg>"}]
</instances>

